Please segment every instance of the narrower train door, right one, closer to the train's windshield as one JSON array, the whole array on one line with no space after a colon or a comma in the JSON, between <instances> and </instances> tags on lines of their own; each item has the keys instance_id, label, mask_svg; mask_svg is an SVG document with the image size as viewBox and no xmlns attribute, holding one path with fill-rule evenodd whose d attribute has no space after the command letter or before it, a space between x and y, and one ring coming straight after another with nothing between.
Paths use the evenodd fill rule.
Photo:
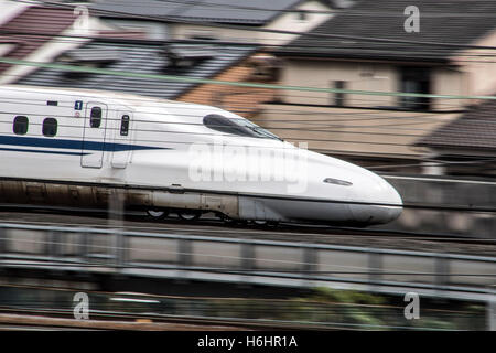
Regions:
<instances>
[{"instance_id":1,"label":"narrower train door, right one, closer to the train's windshield","mask_svg":"<svg viewBox=\"0 0 496 353\"><path fill-rule=\"evenodd\" d=\"M131 111L118 111L114 129L112 168L126 168L132 150Z\"/></svg>"}]
</instances>

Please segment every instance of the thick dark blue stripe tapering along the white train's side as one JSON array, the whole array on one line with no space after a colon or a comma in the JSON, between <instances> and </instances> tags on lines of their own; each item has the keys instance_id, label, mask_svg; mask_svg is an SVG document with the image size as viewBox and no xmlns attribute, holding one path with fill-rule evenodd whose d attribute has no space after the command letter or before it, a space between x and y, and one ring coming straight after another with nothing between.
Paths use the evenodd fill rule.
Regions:
<instances>
[{"instance_id":1,"label":"thick dark blue stripe tapering along the white train's side","mask_svg":"<svg viewBox=\"0 0 496 353\"><path fill-rule=\"evenodd\" d=\"M83 140L57 139L51 137L25 137L25 136L6 136L0 135L0 145L22 146L22 147L41 147L41 148L61 148L68 150L90 150L90 151L131 151L131 150L170 150L171 148L128 145L114 142L96 142Z\"/></svg>"}]
</instances>

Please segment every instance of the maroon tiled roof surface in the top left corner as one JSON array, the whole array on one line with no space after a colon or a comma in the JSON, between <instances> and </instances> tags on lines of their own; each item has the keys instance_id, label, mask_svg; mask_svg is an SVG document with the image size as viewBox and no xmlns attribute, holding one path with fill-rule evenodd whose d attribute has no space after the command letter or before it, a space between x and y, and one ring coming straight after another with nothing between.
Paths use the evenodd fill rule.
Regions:
<instances>
[{"instance_id":1,"label":"maroon tiled roof surface in the top left corner","mask_svg":"<svg viewBox=\"0 0 496 353\"><path fill-rule=\"evenodd\" d=\"M9 58L23 58L46 42L53 35L66 30L75 20L72 10L50 7L30 7L24 12L0 26L0 40L15 42L9 52ZM0 72L10 67L0 64Z\"/></svg>"}]
</instances>

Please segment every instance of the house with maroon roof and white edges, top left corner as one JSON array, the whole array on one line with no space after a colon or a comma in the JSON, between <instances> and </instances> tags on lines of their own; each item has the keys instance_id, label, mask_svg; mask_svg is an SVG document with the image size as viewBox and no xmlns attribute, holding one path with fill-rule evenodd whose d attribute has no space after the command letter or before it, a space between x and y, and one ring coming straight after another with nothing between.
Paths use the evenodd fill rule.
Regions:
<instances>
[{"instance_id":1,"label":"house with maroon roof and white edges, top left corner","mask_svg":"<svg viewBox=\"0 0 496 353\"><path fill-rule=\"evenodd\" d=\"M39 6L0 0L0 55L4 58L51 63L61 54L80 47L93 36L142 39L141 32L117 32L96 18L85 18L74 7ZM82 28L80 21L85 26ZM19 82L36 66L0 63L0 84Z\"/></svg>"}]
</instances>

